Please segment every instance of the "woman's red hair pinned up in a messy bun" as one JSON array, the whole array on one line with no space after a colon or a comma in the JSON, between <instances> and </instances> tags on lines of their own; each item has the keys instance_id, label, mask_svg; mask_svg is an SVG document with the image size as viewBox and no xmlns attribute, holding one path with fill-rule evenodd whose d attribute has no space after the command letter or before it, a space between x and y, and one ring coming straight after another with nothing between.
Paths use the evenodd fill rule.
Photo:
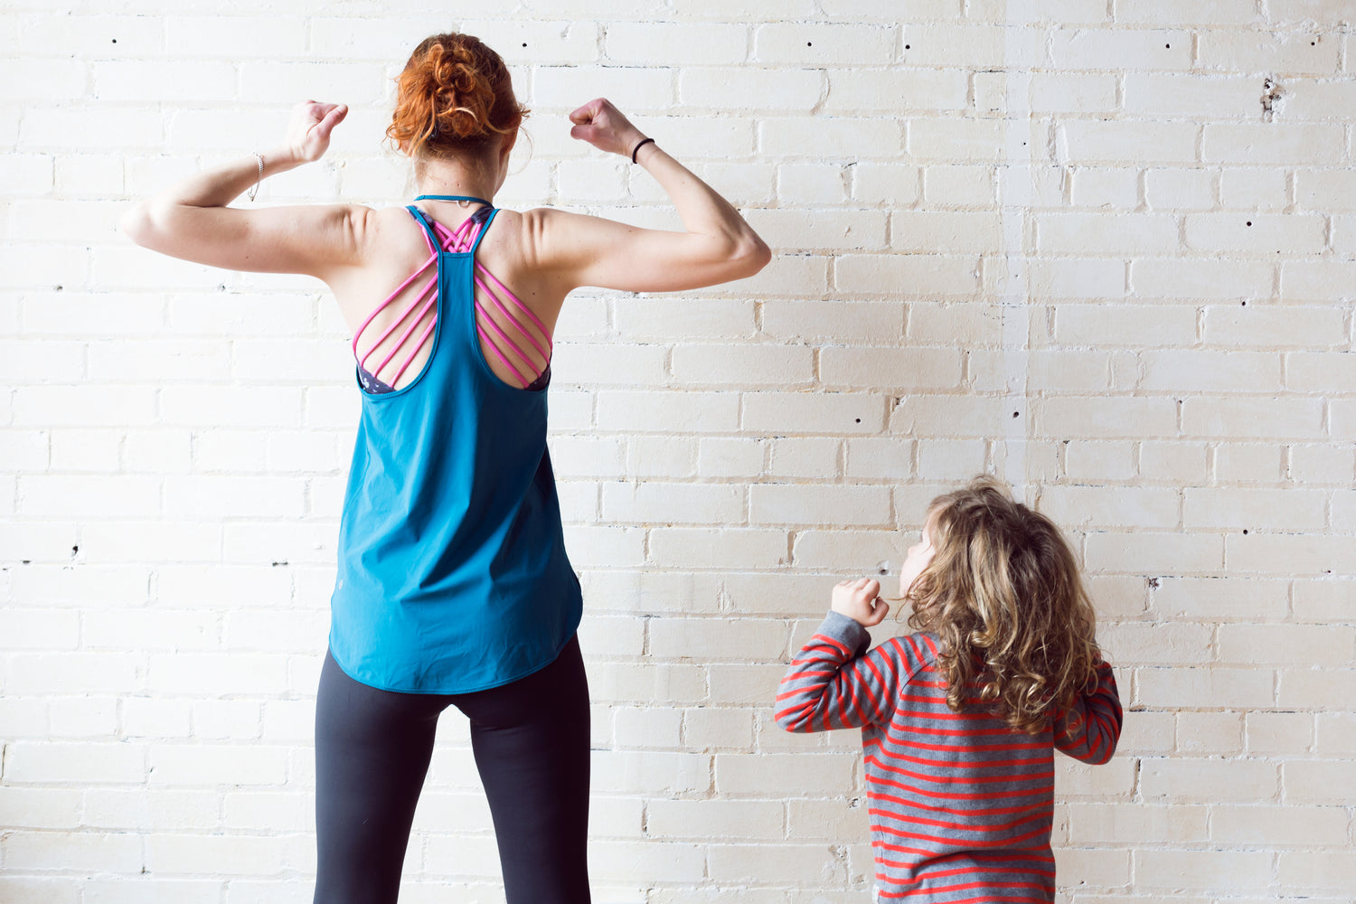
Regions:
<instances>
[{"instance_id":1,"label":"woman's red hair pinned up in a messy bun","mask_svg":"<svg viewBox=\"0 0 1356 904\"><path fill-rule=\"evenodd\" d=\"M525 115L503 58L480 38L452 31L424 38L410 54L386 137L411 157L447 157L484 149Z\"/></svg>"}]
</instances>

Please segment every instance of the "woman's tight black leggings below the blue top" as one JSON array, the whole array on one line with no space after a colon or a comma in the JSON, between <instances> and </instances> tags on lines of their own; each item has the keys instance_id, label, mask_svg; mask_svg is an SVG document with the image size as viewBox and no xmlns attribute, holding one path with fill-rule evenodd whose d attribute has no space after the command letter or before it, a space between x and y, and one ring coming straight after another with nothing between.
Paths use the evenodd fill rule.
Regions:
<instances>
[{"instance_id":1,"label":"woman's tight black leggings below the blue top","mask_svg":"<svg viewBox=\"0 0 1356 904\"><path fill-rule=\"evenodd\" d=\"M471 720L509 904L587 904L589 684L579 641L471 694L396 694L327 653L316 698L316 904L395 904L438 714Z\"/></svg>"}]
</instances>

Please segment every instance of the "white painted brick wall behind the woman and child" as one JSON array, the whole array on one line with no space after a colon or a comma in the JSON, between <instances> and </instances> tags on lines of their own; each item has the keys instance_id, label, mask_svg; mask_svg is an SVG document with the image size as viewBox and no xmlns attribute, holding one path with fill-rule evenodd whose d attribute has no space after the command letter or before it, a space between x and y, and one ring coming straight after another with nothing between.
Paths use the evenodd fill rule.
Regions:
<instances>
[{"instance_id":1,"label":"white painted brick wall behind the woman and child","mask_svg":"<svg viewBox=\"0 0 1356 904\"><path fill-rule=\"evenodd\" d=\"M262 199L401 202L389 77L461 27L534 110L504 203L675 222L568 140L602 94L778 252L561 317L599 901L866 900L856 737L781 733L774 686L837 576L898 565L980 469L1069 529L1128 709L1111 764L1060 763L1062 900L1352 901L1353 22L1348 0L9 3L0 900L311 900L343 327L313 281L114 224L302 95L353 114ZM465 725L441 731L401 900L490 904Z\"/></svg>"}]
</instances>

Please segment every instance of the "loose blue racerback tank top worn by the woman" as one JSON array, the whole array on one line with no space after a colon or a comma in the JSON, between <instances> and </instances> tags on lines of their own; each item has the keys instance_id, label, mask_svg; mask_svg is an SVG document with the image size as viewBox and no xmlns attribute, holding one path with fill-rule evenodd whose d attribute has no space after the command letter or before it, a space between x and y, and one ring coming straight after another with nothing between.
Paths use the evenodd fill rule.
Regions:
<instances>
[{"instance_id":1,"label":"loose blue racerback tank top worn by the woman","mask_svg":"<svg viewBox=\"0 0 1356 904\"><path fill-rule=\"evenodd\" d=\"M475 253L438 248L438 320L423 371L362 393L339 527L330 651L382 690L457 694L551 664L583 609L546 453L546 392L490 370Z\"/></svg>"}]
</instances>

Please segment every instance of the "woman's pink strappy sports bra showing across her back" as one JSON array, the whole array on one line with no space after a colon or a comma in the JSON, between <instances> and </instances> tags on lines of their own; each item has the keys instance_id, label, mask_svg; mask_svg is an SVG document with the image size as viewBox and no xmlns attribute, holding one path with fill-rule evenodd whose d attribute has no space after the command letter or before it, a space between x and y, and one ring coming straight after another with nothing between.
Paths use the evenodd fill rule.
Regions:
<instances>
[{"instance_id":1,"label":"woman's pink strappy sports bra showing across her back","mask_svg":"<svg viewBox=\"0 0 1356 904\"><path fill-rule=\"evenodd\" d=\"M415 201L464 201L481 205L456 230L430 220L442 249L452 252L465 252L475 248L476 239L484 230L485 222L494 211L488 201L465 195L419 195ZM411 215L418 220L414 210L411 210ZM424 233L424 241L428 245L428 259L386 295L386 300L377 305L354 332L353 354L358 361L358 382L363 392L373 394L395 392L400 378L433 339L439 308L438 271L434 267L438 260L438 248L434 247L433 239L427 233ZM410 294L410 302L404 312L391 321L391 325L377 336L376 342L367 346L365 352L359 354L358 342L363 331L431 267L434 272L428 275L423 286ZM551 331L479 260L475 262L473 279L476 333L480 337L481 350L487 356L494 355L503 365L519 389L537 390L544 388L551 379ZM523 320L529 321L534 329L525 325ZM401 327L404 329L396 335ZM423 328L420 329L420 327ZM384 350L385 354L377 366L369 370L367 362L377 350ZM504 379L504 382L510 381Z\"/></svg>"}]
</instances>

